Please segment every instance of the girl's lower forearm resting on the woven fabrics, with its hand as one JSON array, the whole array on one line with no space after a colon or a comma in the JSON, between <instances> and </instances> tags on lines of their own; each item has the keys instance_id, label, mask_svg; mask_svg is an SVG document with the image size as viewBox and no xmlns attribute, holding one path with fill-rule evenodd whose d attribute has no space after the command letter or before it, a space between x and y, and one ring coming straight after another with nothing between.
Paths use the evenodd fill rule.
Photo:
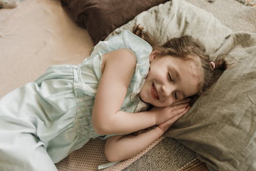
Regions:
<instances>
[{"instance_id":1,"label":"girl's lower forearm resting on the woven fabrics, with its hand","mask_svg":"<svg viewBox=\"0 0 256 171\"><path fill-rule=\"evenodd\" d=\"M183 116L189 108L190 107L188 106L184 112L158 125L154 129L143 132L139 135L118 135L108 138L105 143L106 158L109 161L114 162L136 156L147 146L151 145L155 140L161 137L168 127Z\"/></svg>"}]
</instances>

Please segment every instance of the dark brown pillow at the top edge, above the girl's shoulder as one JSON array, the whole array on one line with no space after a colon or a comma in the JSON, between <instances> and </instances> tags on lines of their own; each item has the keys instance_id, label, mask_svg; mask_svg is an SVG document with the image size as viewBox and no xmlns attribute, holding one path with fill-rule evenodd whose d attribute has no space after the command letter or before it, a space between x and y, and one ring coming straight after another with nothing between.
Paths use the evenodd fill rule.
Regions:
<instances>
[{"instance_id":1,"label":"dark brown pillow at the top edge, above the girl's shoulder","mask_svg":"<svg viewBox=\"0 0 256 171\"><path fill-rule=\"evenodd\" d=\"M74 21L87 29L94 45L137 14L167 0L61 0Z\"/></svg>"}]
</instances>

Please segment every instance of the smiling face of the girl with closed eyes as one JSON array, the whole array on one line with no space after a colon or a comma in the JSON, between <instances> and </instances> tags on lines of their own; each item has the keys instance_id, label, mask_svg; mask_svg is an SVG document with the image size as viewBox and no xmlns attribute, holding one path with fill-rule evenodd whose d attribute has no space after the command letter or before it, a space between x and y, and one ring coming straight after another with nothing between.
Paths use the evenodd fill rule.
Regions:
<instances>
[{"instance_id":1,"label":"smiling face of the girl with closed eyes","mask_svg":"<svg viewBox=\"0 0 256 171\"><path fill-rule=\"evenodd\" d=\"M157 53L153 51L149 56L150 71L140 91L141 99L164 107L195 95L200 83L199 62L169 55L157 56Z\"/></svg>"}]
</instances>

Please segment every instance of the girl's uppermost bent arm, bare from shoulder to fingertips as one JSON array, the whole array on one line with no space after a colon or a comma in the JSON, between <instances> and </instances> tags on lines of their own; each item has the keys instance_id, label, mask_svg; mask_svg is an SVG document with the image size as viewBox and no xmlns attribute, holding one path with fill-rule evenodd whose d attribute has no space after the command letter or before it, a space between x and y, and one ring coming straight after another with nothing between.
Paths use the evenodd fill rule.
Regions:
<instances>
[{"instance_id":1,"label":"girl's uppermost bent arm, bare from shoulder to fingertips","mask_svg":"<svg viewBox=\"0 0 256 171\"><path fill-rule=\"evenodd\" d=\"M187 104L170 108L155 108L140 113L119 111L136 66L136 56L129 49L119 49L104 54L102 76L98 85L92 122L98 134L128 134L160 124L176 113L184 111Z\"/></svg>"}]
</instances>

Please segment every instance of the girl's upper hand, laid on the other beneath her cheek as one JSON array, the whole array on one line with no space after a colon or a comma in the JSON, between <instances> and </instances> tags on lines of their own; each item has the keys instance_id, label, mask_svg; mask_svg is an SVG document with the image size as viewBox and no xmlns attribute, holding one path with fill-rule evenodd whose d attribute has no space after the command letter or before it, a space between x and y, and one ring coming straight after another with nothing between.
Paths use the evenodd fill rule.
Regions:
<instances>
[{"instance_id":1,"label":"girl's upper hand, laid on the other beneath her cheek","mask_svg":"<svg viewBox=\"0 0 256 171\"><path fill-rule=\"evenodd\" d=\"M181 113L182 114L186 113L187 112L186 107L189 106L189 103L188 103L189 101L190 99L186 98L186 99L177 101L170 106L166 106L162 108L153 107L150 110L150 112L152 112L156 118L156 125L159 125Z\"/></svg>"}]
</instances>

